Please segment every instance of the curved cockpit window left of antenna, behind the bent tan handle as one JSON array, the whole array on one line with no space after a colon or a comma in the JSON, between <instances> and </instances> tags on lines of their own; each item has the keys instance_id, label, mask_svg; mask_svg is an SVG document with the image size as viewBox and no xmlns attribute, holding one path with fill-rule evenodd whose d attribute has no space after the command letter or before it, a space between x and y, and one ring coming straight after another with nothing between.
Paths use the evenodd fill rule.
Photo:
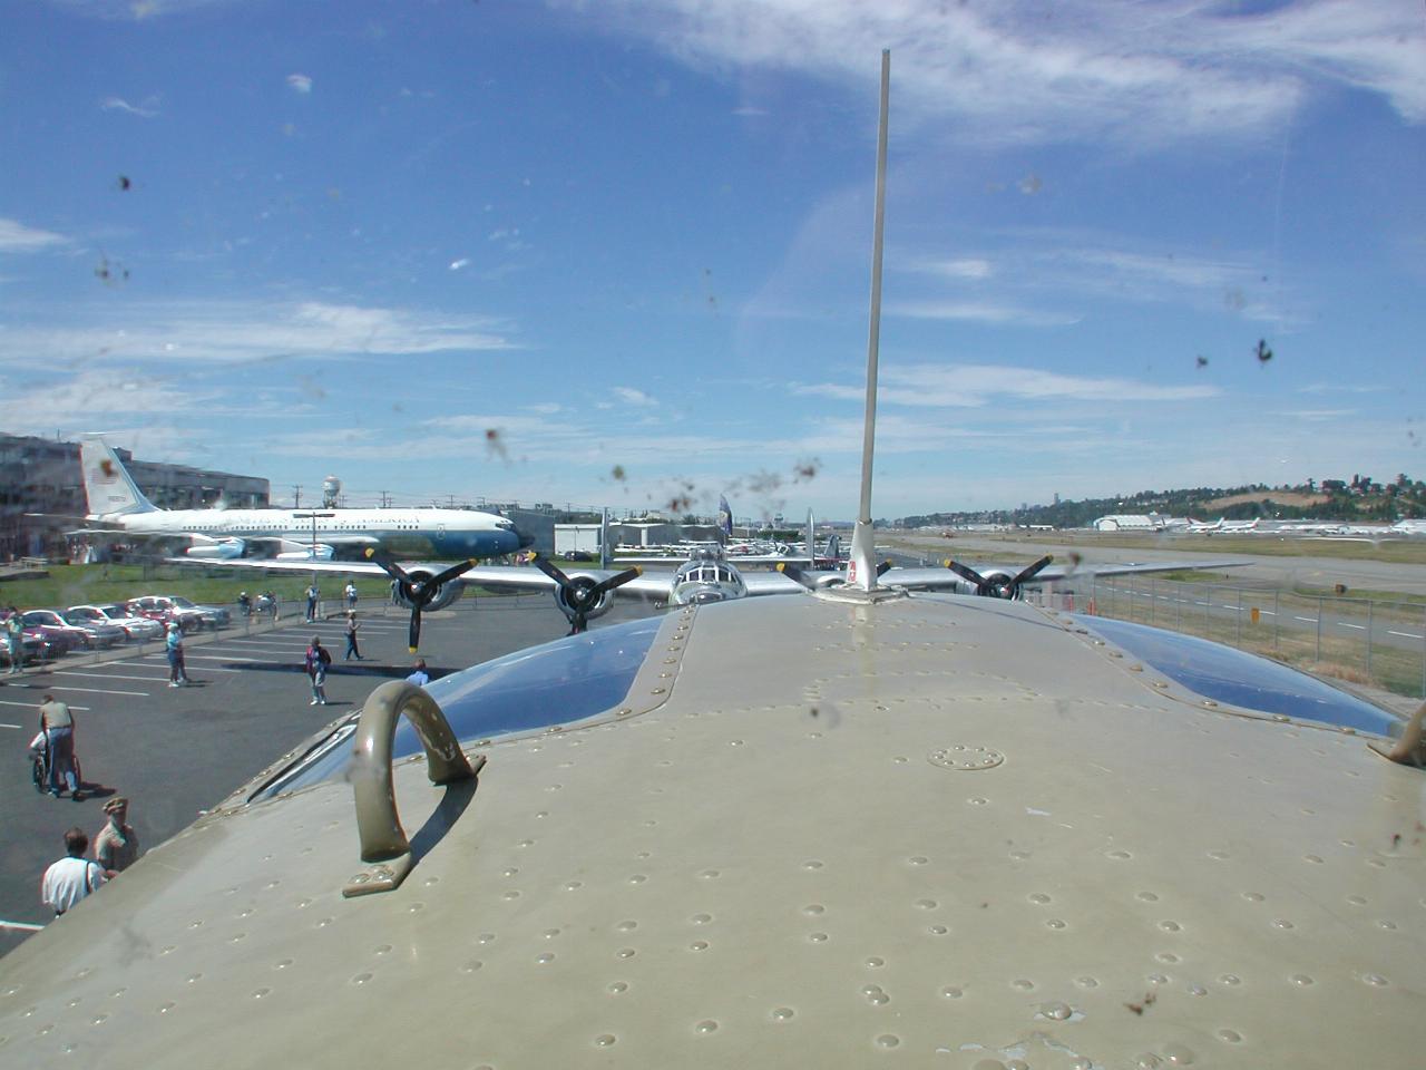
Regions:
<instances>
[{"instance_id":1,"label":"curved cockpit window left of antenna, behind the bent tan handle","mask_svg":"<svg viewBox=\"0 0 1426 1070\"><path fill-rule=\"evenodd\" d=\"M649 616L516 651L432 681L426 691L441 703L456 738L468 746L516 732L573 725L623 700L662 622L662 616ZM250 799L267 799L341 776L351 759L347 740L355 725L355 715L342 720ZM411 722L402 719L392 756L409 758L419 752L421 740Z\"/></svg>"}]
</instances>

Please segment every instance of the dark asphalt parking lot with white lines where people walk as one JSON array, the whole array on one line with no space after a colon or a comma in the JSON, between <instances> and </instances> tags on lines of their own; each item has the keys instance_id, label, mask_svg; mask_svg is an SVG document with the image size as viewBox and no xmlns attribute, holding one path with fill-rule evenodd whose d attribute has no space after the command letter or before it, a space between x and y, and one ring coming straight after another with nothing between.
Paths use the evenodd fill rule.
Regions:
<instances>
[{"instance_id":1,"label":"dark asphalt parking lot with white lines where people walk","mask_svg":"<svg viewBox=\"0 0 1426 1070\"><path fill-rule=\"evenodd\" d=\"M301 612L275 623L238 621L185 642L191 688L168 688L160 646L64 658L46 671L0 676L0 953L51 920L40 905L40 877L64 855L64 832L90 839L104 826L103 803L130 800L128 820L144 849L187 827L275 758L337 718L359 708L374 688L405 678L408 615L394 606L358 606L365 661L344 661L344 621L307 623ZM656 612L616 603L590 628ZM432 676L556 639L569 625L549 595L469 595L422 616L421 652ZM329 705L311 706L302 656L312 635L332 652ZM84 796L53 799L34 790L27 746L46 693L70 705Z\"/></svg>"}]
</instances>

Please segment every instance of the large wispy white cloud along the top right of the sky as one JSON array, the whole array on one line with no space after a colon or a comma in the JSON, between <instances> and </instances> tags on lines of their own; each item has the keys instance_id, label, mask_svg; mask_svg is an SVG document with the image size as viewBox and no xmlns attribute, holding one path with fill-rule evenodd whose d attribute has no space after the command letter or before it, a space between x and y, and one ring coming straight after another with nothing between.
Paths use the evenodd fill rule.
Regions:
<instances>
[{"instance_id":1,"label":"large wispy white cloud along the top right of the sky","mask_svg":"<svg viewBox=\"0 0 1426 1070\"><path fill-rule=\"evenodd\" d=\"M1379 93L1406 120L1426 118L1422 21L1395 0L1263 13L1199 0L1052 11L1038 0L625 0L622 11L620 31L704 67L870 81L868 43L890 47L898 100L923 120L960 120L961 137L1162 144L1262 133L1319 86Z\"/></svg>"}]
</instances>

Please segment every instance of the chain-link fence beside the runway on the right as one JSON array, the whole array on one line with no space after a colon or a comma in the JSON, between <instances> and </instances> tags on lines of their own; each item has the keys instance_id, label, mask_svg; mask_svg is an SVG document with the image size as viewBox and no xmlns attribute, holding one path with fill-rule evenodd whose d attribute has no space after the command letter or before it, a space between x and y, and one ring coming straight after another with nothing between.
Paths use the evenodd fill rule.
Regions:
<instances>
[{"instance_id":1,"label":"chain-link fence beside the runway on the right","mask_svg":"<svg viewBox=\"0 0 1426 1070\"><path fill-rule=\"evenodd\" d=\"M1089 576L1028 598L1198 635L1397 695L1426 698L1426 603L1164 579Z\"/></svg>"}]
</instances>

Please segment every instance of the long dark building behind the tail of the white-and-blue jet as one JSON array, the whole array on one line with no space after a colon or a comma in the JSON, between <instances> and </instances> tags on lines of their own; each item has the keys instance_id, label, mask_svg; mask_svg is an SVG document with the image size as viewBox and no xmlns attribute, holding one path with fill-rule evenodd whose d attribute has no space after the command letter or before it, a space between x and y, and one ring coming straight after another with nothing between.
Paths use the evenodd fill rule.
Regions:
<instances>
[{"instance_id":1,"label":"long dark building behind the tail of the white-and-blue jet","mask_svg":"<svg viewBox=\"0 0 1426 1070\"><path fill-rule=\"evenodd\" d=\"M198 509L220 498L242 509L268 505L270 484L255 475L135 461L127 449L116 452L163 509ZM0 434L0 561L67 558L64 532L80 526L87 512L78 442Z\"/></svg>"}]
</instances>

